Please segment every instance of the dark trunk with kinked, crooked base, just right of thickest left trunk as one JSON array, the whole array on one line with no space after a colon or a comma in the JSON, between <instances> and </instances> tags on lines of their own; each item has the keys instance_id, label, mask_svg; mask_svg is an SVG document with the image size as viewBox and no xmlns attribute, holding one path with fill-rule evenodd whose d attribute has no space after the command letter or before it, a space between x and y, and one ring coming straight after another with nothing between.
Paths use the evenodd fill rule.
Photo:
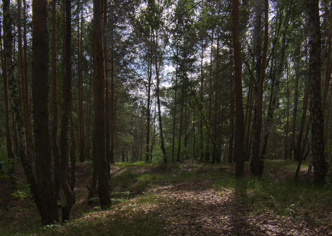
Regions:
<instances>
[{"instance_id":1,"label":"dark trunk with kinked, crooked base, just right of thickest left trunk","mask_svg":"<svg viewBox=\"0 0 332 236\"><path fill-rule=\"evenodd\" d=\"M62 122L61 122L61 133L60 133L60 182L61 187L66 197L66 204L62 206L62 222L69 221L71 207L75 204L75 196L71 191L68 184L68 156L69 156L69 143L68 143L68 128L69 118L71 112L71 2L70 0L64 1L63 6L64 13L64 73L63 73L63 105L62 105Z\"/></svg>"}]
</instances>

